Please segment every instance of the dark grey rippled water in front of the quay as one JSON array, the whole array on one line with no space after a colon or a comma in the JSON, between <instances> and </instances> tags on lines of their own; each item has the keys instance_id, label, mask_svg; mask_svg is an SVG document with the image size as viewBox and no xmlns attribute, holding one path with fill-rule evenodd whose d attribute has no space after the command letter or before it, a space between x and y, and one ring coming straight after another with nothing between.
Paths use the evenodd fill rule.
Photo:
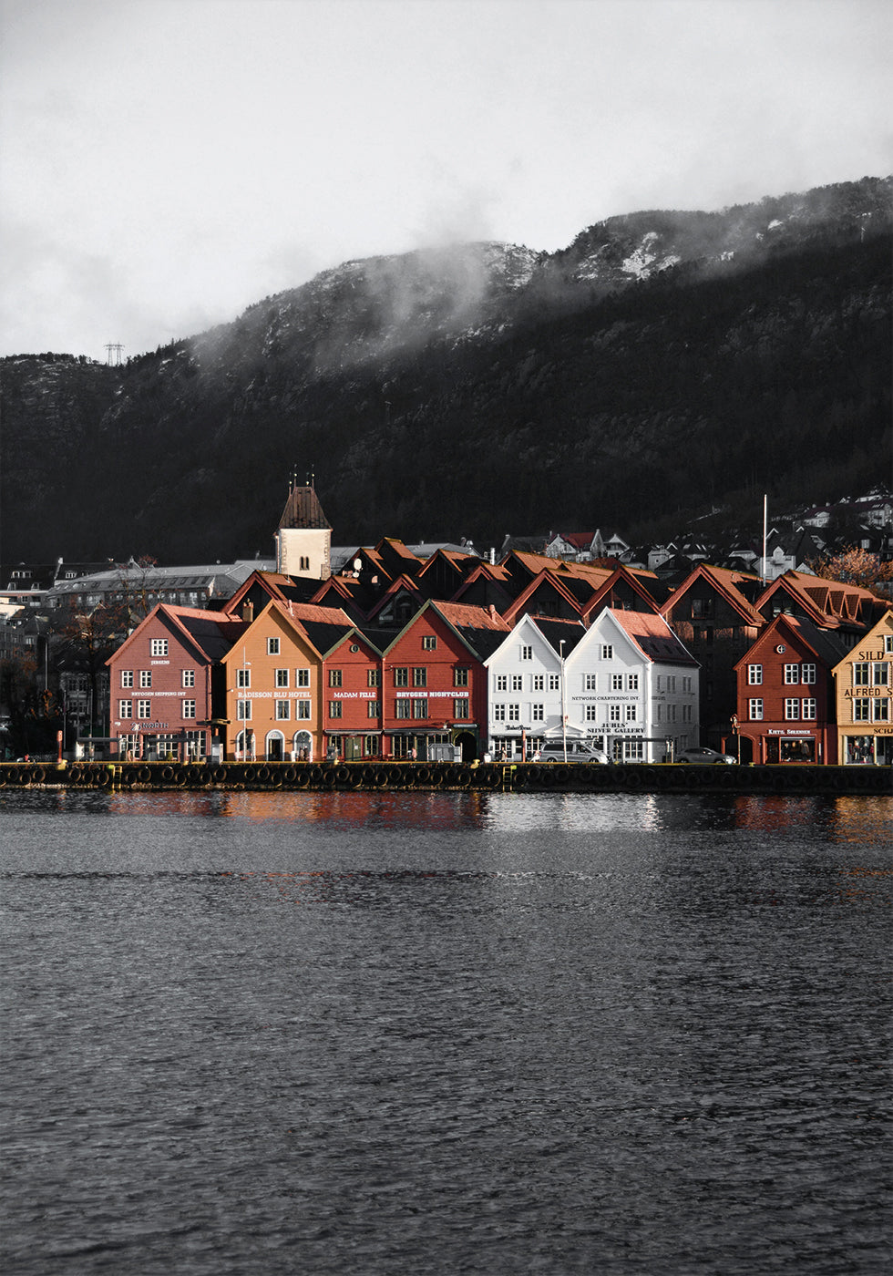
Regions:
<instances>
[{"instance_id":1,"label":"dark grey rippled water in front of the quay","mask_svg":"<svg viewBox=\"0 0 893 1276\"><path fill-rule=\"evenodd\" d=\"M889 1270L892 817L4 794L5 1276Z\"/></svg>"}]
</instances>

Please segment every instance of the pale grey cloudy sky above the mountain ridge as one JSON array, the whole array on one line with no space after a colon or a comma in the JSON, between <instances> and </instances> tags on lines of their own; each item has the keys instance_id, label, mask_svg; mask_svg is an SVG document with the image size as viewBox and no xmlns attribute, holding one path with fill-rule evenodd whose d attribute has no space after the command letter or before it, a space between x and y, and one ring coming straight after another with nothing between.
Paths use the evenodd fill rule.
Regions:
<instances>
[{"instance_id":1,"label":"pale grey cloudy sky above the mountain ridge","mask_svg":"<svg viewBox=\"0 0 893 1276\"><path fill-rule=\"evenodd\" d=\"M893 171L889 0L0 0L0 355Z\"/></svg>"}]
</instances>

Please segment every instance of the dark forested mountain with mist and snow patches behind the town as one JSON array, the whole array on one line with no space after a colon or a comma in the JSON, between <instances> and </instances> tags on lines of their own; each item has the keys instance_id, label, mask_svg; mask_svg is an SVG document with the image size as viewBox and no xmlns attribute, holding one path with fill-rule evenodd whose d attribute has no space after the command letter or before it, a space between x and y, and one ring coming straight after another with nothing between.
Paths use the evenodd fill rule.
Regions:
<instances>
[{"instance_id":1,"label":"dark forested mountain with mist and snow patches behind the town","mask_svg":"<svg viewBox=\"0 0 893 1276\"><path fill-rule=\"evenodd\" d=\"M555 254L347 262L107 367L3 360L3 558L270 551L315 471L338 544L825 501L890 456L893 179L639 212ZM887 459L884 459L887 458Z\"/></svg>"}]
</instances>

